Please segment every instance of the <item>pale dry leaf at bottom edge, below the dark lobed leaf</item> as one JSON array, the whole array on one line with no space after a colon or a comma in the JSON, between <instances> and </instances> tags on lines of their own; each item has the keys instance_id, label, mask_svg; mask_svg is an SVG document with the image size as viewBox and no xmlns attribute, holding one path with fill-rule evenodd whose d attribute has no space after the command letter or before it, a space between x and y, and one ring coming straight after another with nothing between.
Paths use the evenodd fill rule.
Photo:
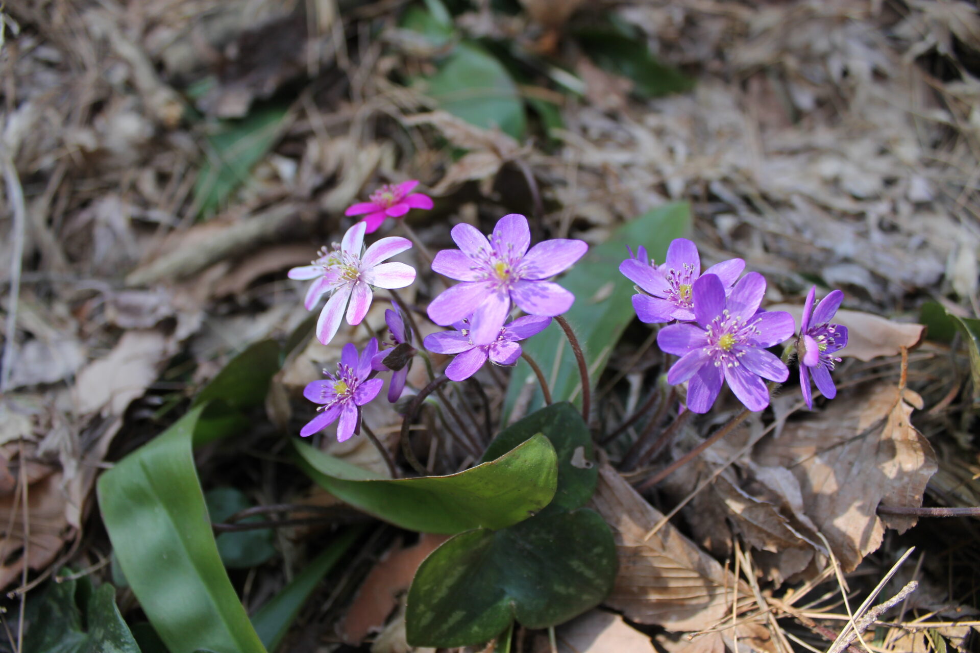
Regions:
<instances>
[{"instance_id":1,"label":"pale dry leaf at bottom edge, below the dark lobed leaf","mask_svg":"<svg viewBox=\"0 0 980 653\"><path fill-rule=\"evenodd\" d=\"M654 653L650 637L604 610L590 610L555 630L559 653ZM538 635L534 653L551 653L546 635Z\"/></svg>"}]
</instances>

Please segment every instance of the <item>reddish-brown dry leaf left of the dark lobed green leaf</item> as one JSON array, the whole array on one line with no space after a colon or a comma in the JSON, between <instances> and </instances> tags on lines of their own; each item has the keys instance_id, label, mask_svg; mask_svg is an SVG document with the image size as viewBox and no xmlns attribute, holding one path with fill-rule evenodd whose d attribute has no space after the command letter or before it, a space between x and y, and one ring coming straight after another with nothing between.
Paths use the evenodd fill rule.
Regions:
<instances>
[{"instance_id":1,"label":"reddish-brown dry leaf left of the dark lobed green leaf","mask_svg":"<svg viewBox=\"0 0 980 653\"><path fill-rule=\"evenodd\" d=\"M418 543L402 548L398 541L378 561L362 583L341 626L341 637L349 644L360 644L371 630L381 630L398 596L409 588L418 565L449 536L422 534ZM404 628L404 626L403 626Z\"/></svg>"}]
</instances>

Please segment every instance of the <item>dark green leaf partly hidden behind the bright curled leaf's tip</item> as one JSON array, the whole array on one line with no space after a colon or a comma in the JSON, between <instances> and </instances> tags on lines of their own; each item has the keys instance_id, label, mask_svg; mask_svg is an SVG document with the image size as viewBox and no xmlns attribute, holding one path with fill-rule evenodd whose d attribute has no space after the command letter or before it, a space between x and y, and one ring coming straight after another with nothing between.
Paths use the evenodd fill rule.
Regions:
<instances>
[{"instance_id":1,"label":"dark green leaf partly hidden behind the bright curled leaf's tip","mask_svg":"<svg viewBox=\"0 0 980 653\"><path fill-rule=\"evenodd\" d=\"M558 490L541 514L585 505L596 491L599 468L592 462L589 428L567 401L533 412L501 431L483 453L483 460L502 456L539 433L551 441L558 455Z\"/></svg>"}]
</instances>

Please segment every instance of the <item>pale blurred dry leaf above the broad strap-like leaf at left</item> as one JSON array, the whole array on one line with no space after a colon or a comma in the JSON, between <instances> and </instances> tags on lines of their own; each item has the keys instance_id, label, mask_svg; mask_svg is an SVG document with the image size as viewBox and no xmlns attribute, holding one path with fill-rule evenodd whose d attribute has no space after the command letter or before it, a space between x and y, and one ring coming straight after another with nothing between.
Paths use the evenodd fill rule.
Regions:
<instances>
[{"instance_id":1,"label":"pale blurred dry leaf above the broad strap-like leaf at left","mask_svg":"<svg viewBox=\"0 0 980 653\"><path fill-rule=\"evenodd\" d=\"M125 332L109 355L93 360L75 377L78 413L122 415L157 379L171 355L171 341L159 331Z\"/></svg>"}]
</instances>

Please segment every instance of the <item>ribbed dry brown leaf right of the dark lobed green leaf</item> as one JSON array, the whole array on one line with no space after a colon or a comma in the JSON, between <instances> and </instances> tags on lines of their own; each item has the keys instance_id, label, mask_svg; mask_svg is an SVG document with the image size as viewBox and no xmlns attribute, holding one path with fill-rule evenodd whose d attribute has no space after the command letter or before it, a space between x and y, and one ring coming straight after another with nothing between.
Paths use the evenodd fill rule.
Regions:
<instances>
[{"instance_id":1,"label":"ribbed dry brown leaf right of the dark lobed green leaf","mask_svg":"<svg viewBox=\"0 0 980 653\"><path fill-rule=\"evenodd\" d=\"M735 578L670 524L647 538L662 513L607 462L590 505L613 528L619 556L607 605L666 630L705 630L731 615ZM738 586L740 600L746 599L749 587Z\"/></svg>"}]
</instances>

